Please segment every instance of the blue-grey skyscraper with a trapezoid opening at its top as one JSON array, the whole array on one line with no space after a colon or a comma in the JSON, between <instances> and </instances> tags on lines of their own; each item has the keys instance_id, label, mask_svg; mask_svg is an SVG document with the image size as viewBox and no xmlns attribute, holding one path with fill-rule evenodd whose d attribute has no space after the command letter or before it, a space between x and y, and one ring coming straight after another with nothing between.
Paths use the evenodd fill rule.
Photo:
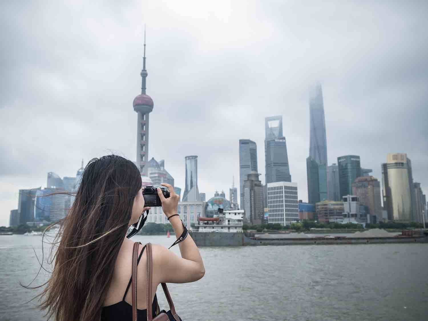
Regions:
<instances>
[{"instance_id":1,"label":"blue-grey skyscraper with a trapezoid opening at its top","mask_svg":"<svg viewBox=\"0 0 428 321\"><path fill-rule=\"evenodd\" d=\"M282 135L282 116L265 118L265 164L266 184L291 182L287 144Z\"/></svg>"}]
</instances>

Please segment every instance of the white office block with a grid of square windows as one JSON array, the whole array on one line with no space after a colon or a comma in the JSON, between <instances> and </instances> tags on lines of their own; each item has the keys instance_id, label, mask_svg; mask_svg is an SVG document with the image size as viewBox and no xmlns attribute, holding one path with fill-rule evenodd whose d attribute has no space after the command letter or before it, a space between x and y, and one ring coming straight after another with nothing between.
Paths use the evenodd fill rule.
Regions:
<instances>
[{"instance_id":1,"label":"white office block with a grid of square windows","mask_svg":"<svg viewBox=\"0 0 428 321\"><path fill-rule=\"evenodd\" d=\"M299 220L297 183L268 183L268 223L290 225Z\"/></svg>"}]
</instances>

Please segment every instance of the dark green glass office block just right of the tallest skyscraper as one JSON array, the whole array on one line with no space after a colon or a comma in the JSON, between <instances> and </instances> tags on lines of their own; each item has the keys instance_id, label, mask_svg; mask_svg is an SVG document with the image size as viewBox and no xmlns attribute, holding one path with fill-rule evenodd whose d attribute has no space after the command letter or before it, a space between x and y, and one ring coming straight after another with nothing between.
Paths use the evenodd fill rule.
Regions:
<instances>
[{"instance_id":1,"label":"dark green glass office block just right of the tallest skyscraper","mask_svg":"<svg viewBox=\"0 0 428 321\"><path fill-rule=\"evenodd\" d=\"M339 167L340 198L352 195L352 183L361 176L360 156L345 155L337 158Z\"/></svg>"}]
</instances>

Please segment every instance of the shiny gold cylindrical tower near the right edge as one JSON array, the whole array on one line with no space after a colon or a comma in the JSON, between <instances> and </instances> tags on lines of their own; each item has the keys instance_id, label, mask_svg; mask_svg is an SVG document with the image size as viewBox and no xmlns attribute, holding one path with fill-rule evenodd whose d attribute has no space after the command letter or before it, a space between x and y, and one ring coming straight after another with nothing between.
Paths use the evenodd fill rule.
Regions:
<instances>
[{"instance_id":1,"label":"shiny gold cylindrical tower near the right edge","mask_svg":"<svg viewBox=\"0 0 428 321\"><path fill-rule=\"evenodd\" d=\"M407 154L388 154L386 163L382 164L382 196L388 220L415 220L412 166Z\"/></svg>"}]
</instances>

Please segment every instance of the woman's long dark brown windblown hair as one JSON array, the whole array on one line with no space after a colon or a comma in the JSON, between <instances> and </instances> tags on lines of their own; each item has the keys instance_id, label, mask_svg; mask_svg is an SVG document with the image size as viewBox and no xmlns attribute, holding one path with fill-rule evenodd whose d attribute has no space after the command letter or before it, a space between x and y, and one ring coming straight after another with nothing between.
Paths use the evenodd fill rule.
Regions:
<instances>
[{"instance_id":1,"label":"woman's long dark brown windblown hair","mask_svg":"<svg viewBox=\"0 0 428 321\"><path fill-rule=\"evenodd\" d=\"M86 165L59 242L39 308L56 321L100 320L120 247L141 188L137 166L117 155ZM52 225L53 226L53 225ZM46 231L45 231L46 232Z\"/></svg>"}]
</instances>

